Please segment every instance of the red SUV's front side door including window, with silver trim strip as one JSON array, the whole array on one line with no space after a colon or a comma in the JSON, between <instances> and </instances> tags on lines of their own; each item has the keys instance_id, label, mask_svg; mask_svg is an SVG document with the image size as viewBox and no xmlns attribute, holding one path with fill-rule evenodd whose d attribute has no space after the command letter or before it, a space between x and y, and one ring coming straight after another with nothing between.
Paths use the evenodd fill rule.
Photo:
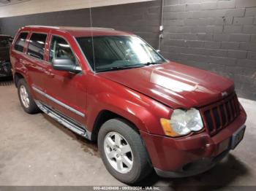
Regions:
<instances>
[{"instance_id":1,"label":"red SUV's front side door including window, with silver trim strip","mask_svg":"<svg viewBox=\"0 0 256 191\"><path fill-rule=\"evenodd\" d=\"M84 125L86 108L86 81L82 71L72 74L68 71L53 70L53 59L70 59L80 66L72 46L63 36L52 35L49 45L49 66L45 80L45 93L48 106L64 117Z\"/></svg>"}]
</instances>

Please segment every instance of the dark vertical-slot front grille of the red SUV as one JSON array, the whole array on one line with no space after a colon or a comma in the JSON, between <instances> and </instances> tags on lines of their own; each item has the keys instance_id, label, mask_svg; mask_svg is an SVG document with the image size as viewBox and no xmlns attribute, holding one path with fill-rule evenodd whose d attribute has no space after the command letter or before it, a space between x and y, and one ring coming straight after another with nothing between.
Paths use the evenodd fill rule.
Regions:
<instances>
[{"instance_id":1,"label":"dark vertical-slot front grille of the red SUV","mask_svg":"<svg viewBox=\"0 0 256 191\"><path fill-rule=\"evenodd\" d=\"M236 93L222 101L200 109L206 129L210 135L214 135L229 125L240 114Z\"/></svg>"}]
</instances>

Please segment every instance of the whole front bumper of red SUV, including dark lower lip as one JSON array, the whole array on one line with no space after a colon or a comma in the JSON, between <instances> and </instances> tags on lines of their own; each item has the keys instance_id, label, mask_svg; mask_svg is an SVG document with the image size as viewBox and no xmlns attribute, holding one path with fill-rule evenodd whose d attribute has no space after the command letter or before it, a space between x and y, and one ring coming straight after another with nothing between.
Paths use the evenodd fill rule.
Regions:
<instances>
[{"instance_id":1,"label":"whole front bumper of red SUV, including dark lower lip","mask_svg":"<svg viewBox=\"0 0 256 191\"><path fill-rule=\"evenodd\" d=\"M173 139L143 131L140 131L140 135L159 176L192 176L212 168L228 154L233 133L236 133L245 121L246 114L241 112L236 120L215 136L204 132Z\"/></svg>"}]
</instances>

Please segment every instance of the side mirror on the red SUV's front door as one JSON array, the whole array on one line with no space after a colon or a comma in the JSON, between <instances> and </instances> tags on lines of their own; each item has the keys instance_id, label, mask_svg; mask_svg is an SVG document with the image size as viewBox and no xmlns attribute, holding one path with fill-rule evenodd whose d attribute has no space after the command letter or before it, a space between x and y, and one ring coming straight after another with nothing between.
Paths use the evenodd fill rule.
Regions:
<instances>
[{"instance_id":1,"label":"side mirror on the red SUV's front door","mask_svg":"<svg viewBox=\"0 0 256 191\"><path fill-rule=\"evenodd\" d=\"M53 59L53 69L78 74L81 69L70 59Z\"/></svg>"}]
</instances>

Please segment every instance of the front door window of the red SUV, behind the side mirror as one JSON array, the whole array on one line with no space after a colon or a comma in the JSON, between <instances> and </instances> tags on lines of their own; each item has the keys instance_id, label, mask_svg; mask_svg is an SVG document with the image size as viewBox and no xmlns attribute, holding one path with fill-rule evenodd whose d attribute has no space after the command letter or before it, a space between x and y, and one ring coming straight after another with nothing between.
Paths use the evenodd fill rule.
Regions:
<instances>
[{"instance_id":1,"label":"front door window of the red SUV, behind the side mirror","mask_svg":"<svg viewBox=\"0 0 256 191\"><path fill-rule=\"evenodd\" d=\"M53 59L70 59L76 63L75 55L67 41L59 36L53 36L50 42L50 63Z\"/></svg>"}]
</instances>

